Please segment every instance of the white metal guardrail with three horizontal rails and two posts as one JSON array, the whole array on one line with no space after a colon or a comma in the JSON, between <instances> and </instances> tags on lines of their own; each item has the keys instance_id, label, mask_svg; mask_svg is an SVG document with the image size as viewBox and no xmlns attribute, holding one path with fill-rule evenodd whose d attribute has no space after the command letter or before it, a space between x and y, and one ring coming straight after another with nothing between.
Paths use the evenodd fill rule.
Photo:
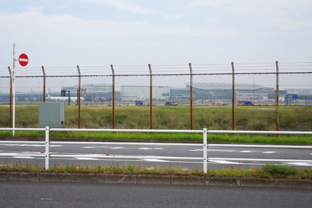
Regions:
<instances>
[{"instance_id":1,"label":"white metal guardrail with three horizontal rails and two posts","mask_svg":"<svg viewBox=\"0 0 312 208\"><path fill-rule=\"evenodd\" d=\"M312 132L297 132L297 131L227 131L227 130L148 130L148 129L72 129L72 128L0 128L0 131L45 131L45 141L0 141L0 143L23 143L23 144L45 144L44 154L14 154L1 153L1 156L36 156L45 157L45 169L49 169L49 158L55 157L95 157L95 158L131 158L131 159L185 159L185 160L203 160L203 172L207 173L208 160L230 160L230 161L262 161L262 162L310 162L312 160L298 160L298 159L257 159L257 158L220 158L207 157L207 147L249 147L249 148L289 148L289 149L312 149L312 146L294 146L294 145L250 145L250 144L209 144L207 145L208 133L222 133L222 134L301 134L312 135ZM202 133L202 144L191 143L142 143L142 142L76 142L76 141L49 141L50 131L92 131L92 132L162 132L162 133ZM127 144L127 145L163 145L163 146L196 146L203 147L202 157L176 157L176 156L106 156L106 155L60 155L50 154L49 145L53 144Z\"/></svg>"}]
</instances>

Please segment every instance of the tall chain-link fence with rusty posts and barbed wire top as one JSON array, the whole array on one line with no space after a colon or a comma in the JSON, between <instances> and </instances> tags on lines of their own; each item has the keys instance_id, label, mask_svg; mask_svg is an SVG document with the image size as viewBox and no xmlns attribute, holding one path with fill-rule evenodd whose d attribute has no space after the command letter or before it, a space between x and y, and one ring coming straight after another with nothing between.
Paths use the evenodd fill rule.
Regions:
<instances>
[{"instance_id":1,"label":"tall chain-link fence with rusty posts and barbed wire top","mask_svg":"<svg viewBox=\"0 0 312 208\"><path fill-rule=\"evenodd\" d=\"M311 66L17 68L15 126L38 127L39 103L64 102L67 128L311 130ZM2 127L12 126L11 82L0 68Z\"/></svg>"}]
</instances>

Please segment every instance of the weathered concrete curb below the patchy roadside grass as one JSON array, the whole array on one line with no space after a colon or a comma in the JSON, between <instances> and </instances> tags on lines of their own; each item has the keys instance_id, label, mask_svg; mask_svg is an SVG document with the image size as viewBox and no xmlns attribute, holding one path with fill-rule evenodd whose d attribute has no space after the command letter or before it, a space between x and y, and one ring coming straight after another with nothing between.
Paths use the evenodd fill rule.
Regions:
<instances>
[{"instance_id":1,"label":"weathered concrete curb below the patchy roadside grass","mask_svg":"<svg viewBox=\"0 0 312 208\"><path fill-rule=\"evenodd\" d=\"M94 173L0 172L0 181L72 182L99 184L149 184L191 186L270 187L312 189L312 180L281 178L239 178L195 175L144 175Z\"/></svg>"}]
</instances>

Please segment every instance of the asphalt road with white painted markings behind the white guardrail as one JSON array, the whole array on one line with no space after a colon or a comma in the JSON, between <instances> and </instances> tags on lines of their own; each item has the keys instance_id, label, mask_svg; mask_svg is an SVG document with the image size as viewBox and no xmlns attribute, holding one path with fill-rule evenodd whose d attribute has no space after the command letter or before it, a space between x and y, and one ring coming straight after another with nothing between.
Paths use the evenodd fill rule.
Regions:
<instances>
[{"instance_id":1,"label":"asphalt road with white painted markings behind the white guardrail","mask_svg":"<svg viewBox=\"0 0 312 208\"><path fill-rule=\"evenodd\" d=\"M0 144L0 165L11 163L28 163L39 164L44 166L44 158L24 157L24 156L1 156L4 153L17 154L39 154L44 152L43 144ZM50 145L50 153L54 154L99 154L99 155L115 155L115 156L178 156L178 157L202 157L202 149L200 147L189 146L146 146L146 145L78 145L78 144L62 144ZM271 159L312 159L312 150L296 150L296 149L264 149L264 148L216 148L209 147L207 151L208 157L234 157L234 158L271 158ZM158 166L163 167L182 167L184 169L202 169L201 160L172 160L172 159L111 159L96 158L90 156L83 157L64 157L51 158L50 164L58 165L111 165L111 164L133 164L147 168ZM244 161L208 161L209 168L219 169L224 167L240 167L252 168L261 167L265 162L244 162ZM277 164L274 162L273 164ZM286 165L295 165L300 167L311 167L312 163L281 163Z\"/></svg>"}]
</instances>

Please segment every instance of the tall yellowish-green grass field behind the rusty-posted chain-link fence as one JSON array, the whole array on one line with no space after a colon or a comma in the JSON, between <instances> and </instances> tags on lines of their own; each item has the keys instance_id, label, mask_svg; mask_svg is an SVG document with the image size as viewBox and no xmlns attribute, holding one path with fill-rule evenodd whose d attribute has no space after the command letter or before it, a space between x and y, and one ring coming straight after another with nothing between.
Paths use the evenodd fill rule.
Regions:
<instances>
[{"instance_id":1,"label":"tall yellowish-green grass field behind the rusty-posted chain-link fence","mask_svg":"<svg viewBox=\"0 0 312 208\"><path fill-rule=\"evenodd\" d=\"M149 106L116 106L116 128L148 129ZM16 106L17 127L38 127L39 107ZM280 105L281 130L311 130L312 106ZM235 106L235 129L275 130L276 106ZM0 126L9 126L9 106L0 106ZM65 127L78 127L78 107L65 107ZM112 128L112 106L81 106L82 128ZM232 129L232 108L222 106L194 106L193 128ZM189 106L153 106L154 129L189 129Z\"/></svg>"}]
</instances>

